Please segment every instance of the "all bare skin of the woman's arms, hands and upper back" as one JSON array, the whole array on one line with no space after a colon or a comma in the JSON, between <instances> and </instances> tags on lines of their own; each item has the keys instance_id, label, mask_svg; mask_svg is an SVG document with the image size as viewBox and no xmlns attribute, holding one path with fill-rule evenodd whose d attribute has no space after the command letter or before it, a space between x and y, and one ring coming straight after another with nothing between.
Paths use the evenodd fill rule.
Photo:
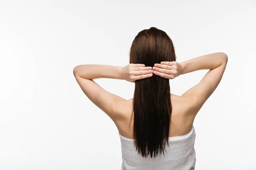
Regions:
<instances>
[{"instance_id":1,"label":"all bare skin of the woman's arms, hands and upper back","mask_svg":"<svg viewBox=\"0 0 256 170\"><path fill-rule=\"evenodd\" d=\"M150 78L153 74L166 79L174 79L192 71L209 69L197 85L181 96L170 94L172 118L170 120L169 136L181 136L191 130L198 111L220 83L226 65L227 55L220 52L180 63L163 61L156 63L153 68L146 67L144 64L129 64L124 67L78 65L73 69L73 73L84 94L113 120L119 133L128 139L133 139L132 126L129 129L133 98L126 100L105 91L93 79L110 78L135 82L138 79Z\"/></svg>"}]
</instances>

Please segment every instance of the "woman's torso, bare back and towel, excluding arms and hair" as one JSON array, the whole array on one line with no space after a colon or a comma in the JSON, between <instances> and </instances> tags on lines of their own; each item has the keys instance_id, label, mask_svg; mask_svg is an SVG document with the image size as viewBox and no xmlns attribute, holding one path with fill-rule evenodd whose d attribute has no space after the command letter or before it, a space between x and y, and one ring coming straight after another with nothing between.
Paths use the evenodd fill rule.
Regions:
<instances>
[{"instance_id":1,"label":"woman's torso, bare back and towel, excluding arms and hair","mask_svg":"<svg viewBox=\"0 0 256 170\"><path fill-rule=\"evenodd\" d=\"M133 139L132 100L119 105L122 121L116 122L122 148L122 170L193 170L195 169L195 128L194 117L189 115L191 102L183 96L170 94L172 118L170 119L169 147L165 155L144 158L138 155Z\"/></svg>"}]
</instances>

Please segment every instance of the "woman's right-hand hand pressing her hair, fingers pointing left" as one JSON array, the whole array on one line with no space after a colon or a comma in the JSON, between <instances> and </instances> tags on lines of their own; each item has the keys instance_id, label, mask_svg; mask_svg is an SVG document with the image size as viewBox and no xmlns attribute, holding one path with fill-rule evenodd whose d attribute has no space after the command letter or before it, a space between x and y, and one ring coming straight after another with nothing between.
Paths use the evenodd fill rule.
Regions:
<instances>
[{"instance_id":1,"label":"woman's right-hand hand pressing her hair, fingers pointing left","mask_svg":"<svg viewBox=\"0 0 256 170\"><path fill-rule=\"evenodd\" d=\"M163 61L160 64L154 64L154 74L166 79L174 79L183 72L183 67L180 63L172 61Z\"/></svg>"}]
</instances>

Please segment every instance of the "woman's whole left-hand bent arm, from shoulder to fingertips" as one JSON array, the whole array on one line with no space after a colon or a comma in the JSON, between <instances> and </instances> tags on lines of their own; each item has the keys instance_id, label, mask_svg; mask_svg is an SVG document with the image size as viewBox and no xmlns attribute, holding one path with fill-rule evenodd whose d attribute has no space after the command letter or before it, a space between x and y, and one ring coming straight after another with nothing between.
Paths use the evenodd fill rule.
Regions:
<instances>
[{"instance_id":1,"label":"woman's whole left-hand bent arm, from shoulder to fingertips","mask_svg":"<svg viewBox=\"0 0 256 170\"><path fill-rule=\"evenodd\" d=\"M125 67L111 65L78 65L73 69L73 74L84 94L113 121L122 119L120 105L126 100L105 91L93 79L110 78L125 79L134 82L152 76L152 68L143 64L129 64Z\"/></svg>"}]
</instances>

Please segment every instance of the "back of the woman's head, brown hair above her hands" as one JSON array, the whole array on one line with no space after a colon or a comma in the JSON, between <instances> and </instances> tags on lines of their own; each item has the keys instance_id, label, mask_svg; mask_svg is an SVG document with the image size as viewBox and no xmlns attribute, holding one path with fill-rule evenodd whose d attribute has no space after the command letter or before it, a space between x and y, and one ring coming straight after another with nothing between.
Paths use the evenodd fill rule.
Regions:
<instances>
[{"instance_id":1,"label":"back of the woman's head, brown hair above her hands","mask_svg":"<svg viewBox=\"0 0 256 170\"><path fill-rule=\"evenodd\" d=\"M140 31L130 48L130 63L153 67L161 61L176 61L171 38L155 27Z\"/></svg>"}]
</instances>

